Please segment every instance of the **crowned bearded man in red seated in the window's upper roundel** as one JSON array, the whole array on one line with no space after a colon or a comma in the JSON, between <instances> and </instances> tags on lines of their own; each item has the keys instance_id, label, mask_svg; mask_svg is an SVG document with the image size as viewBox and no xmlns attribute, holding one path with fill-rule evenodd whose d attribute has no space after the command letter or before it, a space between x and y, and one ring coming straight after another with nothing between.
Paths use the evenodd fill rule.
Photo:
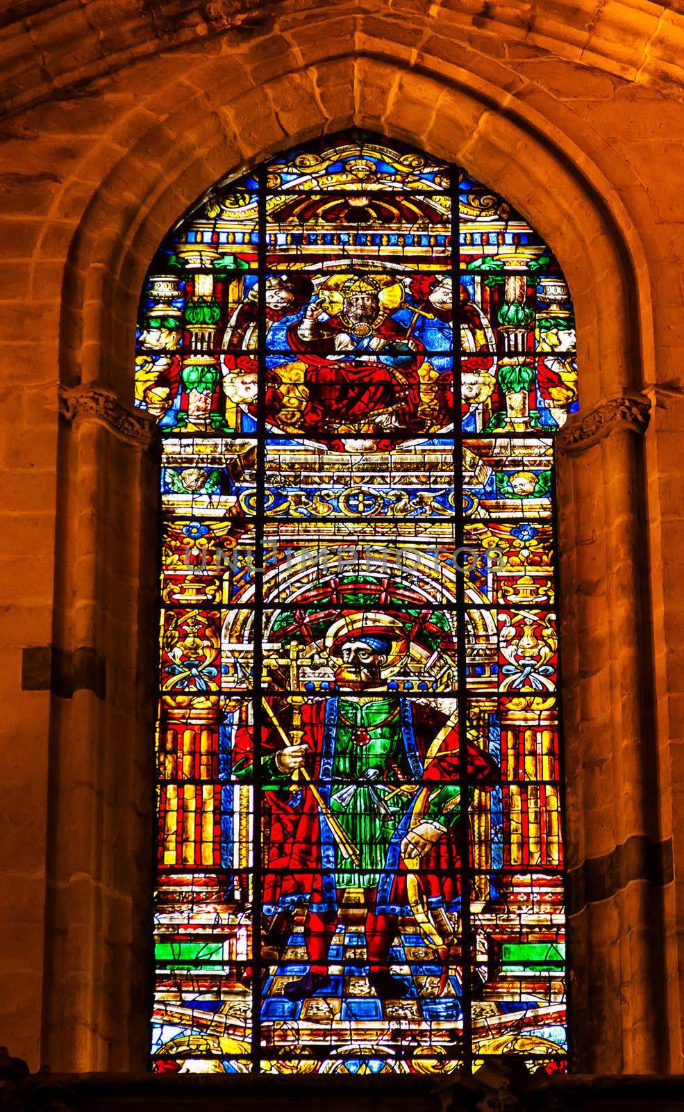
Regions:
<instances>
[{"instance_id":1,"label":"crowned bearded man in red seated in the window's upper roundel","mask_svg":"<svg viewBox=\"0 0 684 1112\"><path fill-rule=\"evenodd\" d=\"M372 277L349 278L338 314L315 298L288 330L290 348L306 366L303 430L420 430L423 345L382 307L381 288Z\"/></svg>"}]
</instances>

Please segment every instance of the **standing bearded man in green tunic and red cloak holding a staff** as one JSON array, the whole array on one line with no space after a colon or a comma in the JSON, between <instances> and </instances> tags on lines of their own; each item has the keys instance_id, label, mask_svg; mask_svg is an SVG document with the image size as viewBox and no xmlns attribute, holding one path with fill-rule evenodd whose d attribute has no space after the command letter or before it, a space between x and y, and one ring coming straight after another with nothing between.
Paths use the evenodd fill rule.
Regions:
<instances>
[{"instance_id":1,"label":"standing bearded man in green tunic and red cloak holding a staff","mask_svg":"<svg viewBox=\"0 0 684 1112\"><path fill-rule=\"evenodd\" d=\"M361 892L370 985L382 999L400 999L408 986L392 975L390 951L400 915L415 912L410 874L418 872L430 909L457 912L459 781L467 775L470 798L475 786L496 783L497 770L474 745L462 770L455 715L388 683L409 651L399 619L348 615L330 626L325 648L334 692L311 693L301 707L283 699L270 712L278 728L262 746L270 827L263 909L273 916L271 940L284 939L294 910L305 909L309 971L284 989L303 1000L330 987L339 906L346 890ZM247 736L243 745L241 753L239 739L233 772L249 778ZM300 770L306 780L296 778Z\"/></svg>"}]
</instances>

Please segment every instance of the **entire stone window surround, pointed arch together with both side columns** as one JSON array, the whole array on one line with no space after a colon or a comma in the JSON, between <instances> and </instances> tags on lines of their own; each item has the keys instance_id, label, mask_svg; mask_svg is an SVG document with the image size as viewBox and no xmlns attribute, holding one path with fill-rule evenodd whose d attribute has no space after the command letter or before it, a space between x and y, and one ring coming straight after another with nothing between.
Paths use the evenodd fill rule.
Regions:
<instances>
[{"instance_id":1,"label":"entire stone window surround, pointed arch together with both side columns","mask_svg":"<svg viewBox=\"0 0 684 1112\"><path fill-rule=\"evenodd\" d=\"M144 1055L155 468L151 430L130 411L142 277L168 227L211 181L354 123L461 162L504 192L571 284L585 415L567 437L560 496L576 1054L585 1069L606 1072L647 1072L663 1061L650 989L662 977L661 924L647 878L628 877L636 883L600 903L598 890L582 895L587 858L607 875L615 846L657 842L643 721L647 646L636 636L644 485L632 434L647 421L638 390L653 378L644 256L616 191L567 137L503 89L463 70L440 75L437 64L406 70L380 49L328 58L285 67L232 101L224 73L162 125L123 121L105 140L118 155L128 135L128 149L92 189L72 239L60 327L54 644L91 646L105 661L107 686L92 683L68 705L53 699L43 1013L53 1068L122 1069ZM57 199L57 221L61 215ZM625 963L633 976L621 999Z\"/></svg>"}]
</instances>

